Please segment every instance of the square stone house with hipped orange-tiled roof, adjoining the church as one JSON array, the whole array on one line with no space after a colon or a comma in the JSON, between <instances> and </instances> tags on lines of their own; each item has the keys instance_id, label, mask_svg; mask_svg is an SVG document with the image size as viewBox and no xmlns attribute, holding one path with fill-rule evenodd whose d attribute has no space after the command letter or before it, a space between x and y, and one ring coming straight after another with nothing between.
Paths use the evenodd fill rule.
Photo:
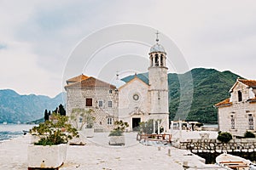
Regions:
<instances>
[{"instance_id":1,"label":"square stone house with hipped orange-tiled roof, adjoining the church","mask_svg":"<svg viewBox=\"0 0 256 170\"><path fill-rule=\"evenodd\" d=\"M94 128L100 132L113 129L118 120L119 94L116 87L95 77L83 74L67 80L67 116L74 108L93 110L96 117Z\"/></svg>"}]
</instances>

